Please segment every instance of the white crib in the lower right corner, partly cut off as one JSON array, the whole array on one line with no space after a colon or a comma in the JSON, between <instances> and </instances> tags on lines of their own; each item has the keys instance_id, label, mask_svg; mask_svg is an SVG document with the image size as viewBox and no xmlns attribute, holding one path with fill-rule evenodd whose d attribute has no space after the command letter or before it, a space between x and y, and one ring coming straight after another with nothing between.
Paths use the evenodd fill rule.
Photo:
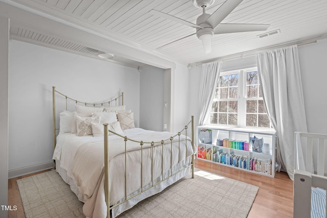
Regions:
<instances>
[{"instance_id":1,"label":"white crib in the lower right corner, partly cut off","mask_svg":"<svg viewBox=\"0 0 327 218\"><path fill-rule=\"evenodd\" d=\"M326 153L326 134L295 132L294 218L326 217Z\"/></svg>"}]
</instances>

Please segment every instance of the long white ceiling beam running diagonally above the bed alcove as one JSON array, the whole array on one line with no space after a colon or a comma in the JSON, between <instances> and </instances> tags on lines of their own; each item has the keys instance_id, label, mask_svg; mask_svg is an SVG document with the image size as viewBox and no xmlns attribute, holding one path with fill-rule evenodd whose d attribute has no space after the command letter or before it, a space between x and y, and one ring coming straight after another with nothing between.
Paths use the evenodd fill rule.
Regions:
<instances>
[{"instance_id":1,"label":"long white ceiling beam running diagonally above the bed alcove","mask_svg":"<svg viewBox=\"0 0 327 218\"><path fill-rule=\"evenodd\" d=\"M61 22L13 7L0 2L0 16L8 17L18 23L41 29L51 34L57 34L62 38L66 37L78 44L91 47L92 49L110 52L117 56L128 58L141 63L149 64L159 68L175 68L175 63L167 59L150 54L150 52L141 51L143 47L139 45L139 50L134 47L121 44L110 40L101 34L92 34L80 29L65 25Z\"/></svg>"}]
</instances>

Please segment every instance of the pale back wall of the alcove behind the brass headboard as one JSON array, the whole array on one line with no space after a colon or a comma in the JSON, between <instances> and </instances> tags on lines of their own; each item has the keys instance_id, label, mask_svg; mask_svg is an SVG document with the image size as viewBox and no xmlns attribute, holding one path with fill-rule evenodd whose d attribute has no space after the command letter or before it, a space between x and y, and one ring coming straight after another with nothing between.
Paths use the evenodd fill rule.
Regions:
<instances>
[{"instance_id":1,"label":"pale back wall of the alcove behind the brass headboard","mask_svg":"<svg viewBox=\"0 0 327 218\"><path fill-rule=\"evenodd\" d=\"M32 166L52 161L52 86L82 102L102 102L123 91L139 126L137 69L10 41L9 174L30 173Z\"/></svg>"}]
</instances>

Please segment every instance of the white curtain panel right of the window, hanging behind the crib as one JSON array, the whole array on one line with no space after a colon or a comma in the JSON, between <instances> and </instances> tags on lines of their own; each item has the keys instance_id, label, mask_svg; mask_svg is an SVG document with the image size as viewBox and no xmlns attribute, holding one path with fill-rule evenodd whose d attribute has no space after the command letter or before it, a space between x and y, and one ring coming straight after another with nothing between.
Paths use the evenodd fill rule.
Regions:
<instances>
[{"instance_id":1,"label":"white curtain panel right of the window, hanging behind the crib","mask_svg":"<svg viewBox=\"0 0 327 218\"><path fill-rule=\"evenodd\" d=\"M297 46L257 54L256 62L263 99L277 132L276 162L293 180L294 132L307 132Z\"/></svg>"}]
</instances>

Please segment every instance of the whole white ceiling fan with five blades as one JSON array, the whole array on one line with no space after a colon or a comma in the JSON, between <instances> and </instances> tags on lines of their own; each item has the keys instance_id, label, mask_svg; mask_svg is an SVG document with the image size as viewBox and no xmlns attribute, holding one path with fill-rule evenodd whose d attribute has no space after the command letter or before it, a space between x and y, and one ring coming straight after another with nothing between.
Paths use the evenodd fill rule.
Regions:
<instances>
[{"instance_id":1,"label":"whole white ceiling fan with five blades","mask_svg":"<svg viewBox=\"0 0 327 218\"><path fill-rule=\"evenodd\" d=\"M191 0L191 1L193 2L193 5L195 7L202 8L203 10L203 13L197 18L196 24L157 10L151 10L149 11L149 13L182 23L183 25L187 25L189 27L196 28L196 33L194 34L196 34L196 36L202 41L204 51L206 54L211 52L211 39L214 34L264 31L267 30L267 28L269 27L269 25L267 24L220 23L243 0L226 0L213 14L205 13L205 9L206 7L213 5L215 3L215 0Z\"/></svg>"}]
</instances>

